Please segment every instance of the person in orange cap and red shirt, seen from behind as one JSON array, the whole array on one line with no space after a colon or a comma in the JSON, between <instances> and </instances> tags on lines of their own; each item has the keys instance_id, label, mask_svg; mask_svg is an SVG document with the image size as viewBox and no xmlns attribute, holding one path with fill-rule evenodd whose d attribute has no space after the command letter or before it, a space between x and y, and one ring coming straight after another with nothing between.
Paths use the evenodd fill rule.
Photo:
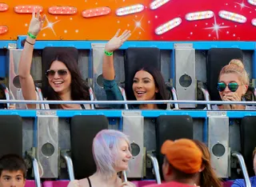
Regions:
<instances>
[{"instance_id":1,"label":"person in orange cap and red shirt, seen from behind","mask_svg":"<svg viewBox=\"0 0 256 187\"><path fill-rule=\"evenodd\" d=\"M166 183L147 187L195 186L202 168L202 151L189 139L165 141L161 148L165 155L162 173ZM210 186L210 185L208 185Z\"/></svg>"}]
</instances>

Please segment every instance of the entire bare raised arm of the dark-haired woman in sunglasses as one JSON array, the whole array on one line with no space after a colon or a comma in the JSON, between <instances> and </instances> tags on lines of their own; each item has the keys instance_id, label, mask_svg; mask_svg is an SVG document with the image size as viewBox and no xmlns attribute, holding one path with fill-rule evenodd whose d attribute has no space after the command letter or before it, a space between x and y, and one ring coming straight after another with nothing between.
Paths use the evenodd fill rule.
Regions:
<instances>
[{"instance_id":1,"label":"entire bare raised arm of the dark-haired woman in sunglasses","mask_svg":"<svg viewBox=\"0 0 256 187\"><path fill-rule=\"evenodd\" d=\"M26 37L24 49L22 50L22 57L18 65L19 81L22 86L22 94L25 100L37 100L34 80L30 74L30 68L32 63L35 38L42 29L45 18L45 15L41 17L39 10L37 14L35 14L35 10L33 10L28 36ZM36 105L28 104L27 107L29 109L35 109Z\"/></svg>"}]
</instances>

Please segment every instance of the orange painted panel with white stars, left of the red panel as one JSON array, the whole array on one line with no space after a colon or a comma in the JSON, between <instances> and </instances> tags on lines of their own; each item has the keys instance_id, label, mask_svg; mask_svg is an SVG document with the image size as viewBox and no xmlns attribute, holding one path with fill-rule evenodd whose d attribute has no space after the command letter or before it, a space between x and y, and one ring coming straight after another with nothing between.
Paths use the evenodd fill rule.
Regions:
<instances>
[{"instance_id":1,"label":"orange painted panel with white stars, left of the red panel","mask_svg":"<svg viewBox=\"0 0 256 187\"><path fill-rule=\"evenodd\" d=\"M118 29L131 30L130 40L152 39L149 18L146 14L151 0L4 0L9 9L0 12L0 25L8 26L6 34L0 34L0 40L16 40L18 35L26 35L30 25L31 14L17 14L15 6L42 6L42 15L47 22L38 35L38 40L109 40ZM145 10L136 14L118 16L116 10L125 6L143 3ZM48 12L51 6L74 6L78 13L73 15L53 15ZM93 18L83 18L84 10L107 6L110 14ZM52 29L51 29L52 26Z\"/></svg>"}]
</instances>

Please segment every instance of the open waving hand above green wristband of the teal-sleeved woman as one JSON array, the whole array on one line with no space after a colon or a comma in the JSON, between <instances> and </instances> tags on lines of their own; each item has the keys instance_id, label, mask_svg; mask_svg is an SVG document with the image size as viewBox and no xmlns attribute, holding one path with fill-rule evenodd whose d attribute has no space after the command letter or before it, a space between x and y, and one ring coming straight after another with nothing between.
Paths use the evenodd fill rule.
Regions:
<instances>
[{"instance_id":1,"label":"open waving hand above green wristband of the teal-sleeved woman","mask_svg":"<svg viewBox=\"0 0 256 187\"><path fill-rule=\"evenodd\" d=\"M113 52L114 50L118 50L119 47L122 46L123 42L130 37L130 30L125 30L120 36L120 30L114 35L113 38L110 39L109 42L106 43L105 50L108 52Z\"/></svg>"}]
</instances>

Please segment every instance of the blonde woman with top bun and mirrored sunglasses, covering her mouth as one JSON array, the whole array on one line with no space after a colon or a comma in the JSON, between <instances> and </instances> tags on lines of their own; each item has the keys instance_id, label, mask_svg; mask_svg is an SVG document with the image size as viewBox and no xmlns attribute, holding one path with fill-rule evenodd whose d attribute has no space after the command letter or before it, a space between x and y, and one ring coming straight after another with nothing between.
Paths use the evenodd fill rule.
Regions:
<instances>
[{"instance_id":1,"label":"blonde woman with top bun and mirrored sunglasses, covering her mouth","mask_svg":"<svg viewBox=\"0 0 256 187\"><path fill-rule=\"evenodd\" d=\"M249 77L238 59L233 59L224 66L218 77L218 93L222 101L242 101L249 86ZM255 109L248 105L212 105L212 109Z\"/></svg>"}]
</instances>

